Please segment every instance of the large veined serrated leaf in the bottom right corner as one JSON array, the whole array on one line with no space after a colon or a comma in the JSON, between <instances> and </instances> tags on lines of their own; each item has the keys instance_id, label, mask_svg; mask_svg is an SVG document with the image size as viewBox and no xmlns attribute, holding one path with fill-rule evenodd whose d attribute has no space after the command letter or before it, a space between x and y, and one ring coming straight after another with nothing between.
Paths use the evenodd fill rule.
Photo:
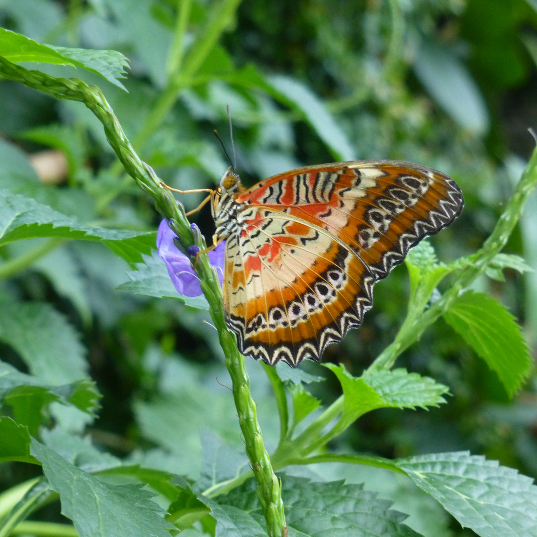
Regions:
<instances>
[{"instance_id":1,"label":"large veined serrated leaf in the bottom right corner","mask_svg":"<svg viewBox=\"0 0 537 537\"><path fill-rule=\"evenodd\" d=\"M468 452L419 455L397 466L481 537L534 537L537 487L517 470Z\"/></svg>"}]
</instances>

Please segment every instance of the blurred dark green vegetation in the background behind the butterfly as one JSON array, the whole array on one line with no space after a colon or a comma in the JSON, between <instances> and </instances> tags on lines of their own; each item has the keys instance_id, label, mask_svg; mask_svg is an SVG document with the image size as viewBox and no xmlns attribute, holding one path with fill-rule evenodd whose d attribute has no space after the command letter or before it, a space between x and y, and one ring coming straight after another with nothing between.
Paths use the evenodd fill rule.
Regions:
<instances>
[{"instance_id":1,"label":"blurred dark green vegetation in the background behind the butterfly","mask_svg":"<svg viewBox=\"0 0 537 537\"><path fill-rule=\"evenodd\" d=\"M418 162L458 182L466 208L451 228L432 239L441 260L473 253L489 235L535 144L527 130L537 128L535 0L243 2L207 61L206 78L202 72L163 121L149 135L137 137L166 86L176 4L3 0L0 25L53 45L124 53L131 61L124 81L129 93L91 81L105 93L141 157L171 186L210 187L226 169L212 132L217 128L227 139L227 103L238 171L246 184L337 158L307 114L249 89L241 73L253 65L269 80L292 78L321 99L349 140L352 158ZM194 1L188 30L199 31L197 25L210 9L210 3ZM64 76L84 75L69 71ZM84 222L155 229L158 216L150 200L123 178L90 115L79 103L55 101L0 81L2 154L9 159L20 156L18 150L34 155L60 149L68 157L67 177L59 185L36 187L38 199L48 199ZM341 155L346 155L344 148ZM199 202L195 195L180 199L187 209ZM214 227L209 212L201 211L194 220L210 237ZM537 269L535 196L506 252L524 256ZM0 255L7 259L13 252ZM214 379L217 375L227 383L216 333L201 322L206 316L199 310L114 291L127 280L128 270L104 246L63 243L3 281L2 293L53 304L81 334L89 372L104 395L99 418L89 425L98 445L115 455L196 475L204 427L241 445L230 395ZM475 288L509 307L534 345L537 277L510 270L505 275L503 282L482 277ZM361 329L330 346L323 360L343 362L359 374L393 339L407 294L407 273L398 267L376 286L375 306ZM24 368L8 347L0 352L2 359ZM388 458L470 449L537 476L533 375L510 401L495 374L442 320L405 352L398 366L447 384L452 397L430 411L369 413L333 449ZM333 375L317 364L303 368L328 376L315 387L323 401L339 395ZM249 369L270 446L277 431L270 390L258 364L249 364ZM206 394L213 397L210 404ZM27 471L24 465L4 465L0 488L27 477ZM377 481L384 491L391 488L392 497L394 490L406 490L400 482ZM403 492L401 496L407 494ZM448 519L431 524L434 535L462 534Z\"/></svg>"}]
</instances>

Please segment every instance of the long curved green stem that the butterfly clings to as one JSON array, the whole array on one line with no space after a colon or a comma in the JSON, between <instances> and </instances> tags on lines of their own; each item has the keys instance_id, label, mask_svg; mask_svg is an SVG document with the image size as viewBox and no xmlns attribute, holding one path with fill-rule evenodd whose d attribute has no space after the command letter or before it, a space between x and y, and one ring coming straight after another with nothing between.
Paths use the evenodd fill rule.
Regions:
<instances>
[{"instance_id":1,"label":"long curved green stem that the butterfly clings to","mask_svg":"<svg viewBox=\"0 0 537 537\"><path fill-rule=\"evenodd\" d=\"M233 0L235 5L238 0ZM230 2L227 2L230 5ZM141 161L123 132L118 119L103 93L96 86L88 86L74 78L53 78L39 71L28 71L0 57L0 75L15 79L31 88L39 89L60 99L82 101L103 124L106 137L127 173L136 184L151 195L155 207L170 223L170 228L179 237L185 251L189 246L205 248L205 241L199 232L190 227L185 210L178 204L169 190L164 188L153 169ZM284 504L281 499L281 484L274 474L267 453L259 423L256 404L250 393L250 380L246 373L244 357L238 352L235 336L228 331L222 307L222 288L215 269L207 254L191 258L197 272L201 289L209 303L214 325L218 331L220 344L226 355L226 366L233 383L233 397L241 430L246 444L246 454L252 465L257 481L259 502L262 506L270 537L281 537L286 531ZM3 537L0 535L0 537Z\"/></svg>"}]
</instances>

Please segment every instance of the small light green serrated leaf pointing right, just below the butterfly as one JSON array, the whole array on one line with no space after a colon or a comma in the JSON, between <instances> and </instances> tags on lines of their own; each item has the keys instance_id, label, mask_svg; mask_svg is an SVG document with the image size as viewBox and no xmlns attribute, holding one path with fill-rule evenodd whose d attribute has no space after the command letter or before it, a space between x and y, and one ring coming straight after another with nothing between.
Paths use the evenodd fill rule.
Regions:
<instances>
[{"instance_id":1,"label":"small light green serrated leaf pointing right, just below the butterfly","mask_svg":"<svg viewBox=\"0 0 537 537\"><path fill-rule=\"evenodd\" d=\"M428 376L408 373L406 369L370 371L362 379L391 407L397 408L438 407L446 402L442 395L449 392L444 384Z\"/></svg>"}]
</instances>

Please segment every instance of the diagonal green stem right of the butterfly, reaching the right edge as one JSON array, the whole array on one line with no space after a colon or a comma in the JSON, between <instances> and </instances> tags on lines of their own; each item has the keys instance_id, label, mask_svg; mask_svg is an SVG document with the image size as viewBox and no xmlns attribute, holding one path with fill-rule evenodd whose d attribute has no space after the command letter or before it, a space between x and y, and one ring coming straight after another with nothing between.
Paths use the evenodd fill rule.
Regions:
<instances>
[{"instance_id":1,"label":"diagonal green stem right of the butterfly, reaching the right edge","mask_svg":"<svg viewBox=\"0 0 537 537\"><path fill-rule=\"evenodd\" d=\"M429 309L403 323L394 341L375 359L369 369L389 369L393 366L397 357L420 338L427 326L433 324L438 317L447 311L459 293L487 269L491 260L507 244L514 227L517 225L524 204L536 186L537 149L533 151L526 170L514 190L513 197L500 216L496 227L484 242L483 247L473 256L473 264L461 271L453 285Z\"/></svg>"}]
</instances>

